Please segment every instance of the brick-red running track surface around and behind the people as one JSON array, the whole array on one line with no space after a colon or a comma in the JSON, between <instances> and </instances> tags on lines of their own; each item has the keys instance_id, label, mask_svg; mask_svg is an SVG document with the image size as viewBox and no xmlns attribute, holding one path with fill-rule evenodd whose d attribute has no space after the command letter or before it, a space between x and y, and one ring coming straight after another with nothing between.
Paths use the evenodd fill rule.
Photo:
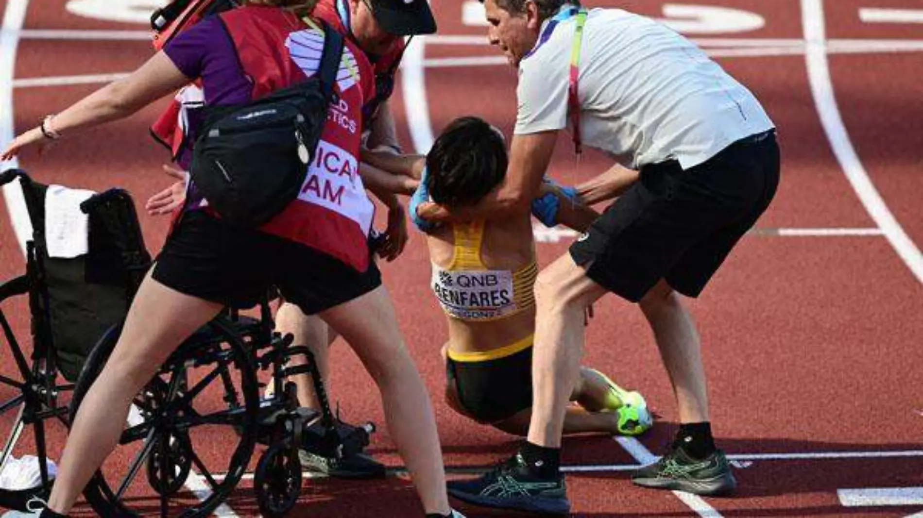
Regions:
<instances>
[{"instance_id":1,"label":"brick-red running track surface around and behind the people","mask_svg":"<svg viewBox=\"0 0 923 518\"><path fill-rule=\"evenodd\" d=\"M6 8L10 0L0 1ZM802 3L811 3L805 0ZM691 4L692 2L689 2ZM65 0L33 0L25 29L144 29L143 26L78 18ZM699 2L696 2L699 4ZM760 14L765 26L744 33L693 35L733 39L804 38L797 0L713 0ZM620 6L659 16L662 2L626 1ZM827 0L827 37L920 41L919 24L869 24L859 7L923 8L919 0ZM483 28L461 22L458 0L434 4L440 34L483 36ZM419 44L419 42L414 42ZM773 46L767 44L767 46ZM734 45L723 48L736 48ZM15 78L126 72L150 55L144 41L42 41L18 43ZM493 56L483 44L427 44L425 57ZM757 235L744 239L701 300L690 302L700 324L710 373L713 422L728 453L843 453L916 451L917 456L872 459L742 459L741 489L731 499L706 499L722 516L905 516L923 502L899 507L844 507L837 489L920 488L923 492L923 284L885 237L780 237L774 229L874 229L877 224L846 180L818 116L803 53L725 57L719 61L752 88L779 127L784 153L779 193L761 219ZM829 71L835 100L858 158L894 218L923 245L923 103L919 77L923 53L832 53ZM8 77L3 78L9 81ZM464 113L511 129L515 74L502 65L426 69L426 102L432 128ZM15 129L34 125L47 112L78 100L98 85L16 88ZM395 95L402 141L411 146L406 102L419 92ZM6 112L10 107L0 106ZM102 190L127 188L138 201L164 184L166 159L147 137L152 108L124 122L61 141L42 159L21 158L42 182ZM6 117L6 115L4 115ZM601 171L605 160L588 153L575 171L566 141L559 143L552 173L566 182ZM4 202L0 198L0 205ZM3 213L6 215L6 206ZM152 251L160 248L166 220L142 216ZM546 264L566 250L564 238L540 246ZM0 278L18 275L22 256L6 218L0 218ZM414 236L397 264L383 265L406 341L434 394L438 424L450 466L485 465L509 454L513 440L455 416L436 395L443 373L438 355L442 315L426 295L428 270L423 240ZM425 300L421 304L421 300ZM27 336L22 304L4 307ZM653 339L640 312L615 298L601 301L588 330L586 362L637 387L663 417L641 439L657 453L675 430L675 408ZM383 423L378 395L347 347L335 347L331 394L343 417ZM4 351L6 354L6 351ZM8 357L8 355L7 355ZM54 435L59 455L63 433ZM25 447L24 447L25 448ZM24 450L19 453L24 453ZM373 443L391 465L399 465L387 431ZM57 458L57 457L55 457ZM567 465L631 465L627 451L608 438L566 441ZM748 464L751 463L751 464ZM240 516L255 515L249 483L229 503ZM625 471L569 477L579 516L694 516L671 493L634 488ZM473 510L471 510L473 511ZM293 515L412 516L414 492L400 478L382 482L310 481ZM705 511L702 511L705 512ZM470 512L469 516L477 515ZM718 515L718 514L712 514Z\"/></svg>"}]
</instances>

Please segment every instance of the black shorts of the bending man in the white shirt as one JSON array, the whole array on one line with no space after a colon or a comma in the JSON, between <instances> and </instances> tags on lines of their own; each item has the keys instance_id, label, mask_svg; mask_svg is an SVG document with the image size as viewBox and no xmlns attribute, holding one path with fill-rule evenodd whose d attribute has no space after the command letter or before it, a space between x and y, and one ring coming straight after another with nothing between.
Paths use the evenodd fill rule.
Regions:
<instances>
[{"instance_id":1,"label":"black shorts of the bending man in the white shirt","mask_svg":"<svg viewBox=\"0 0 923 518\"><path fill-rule=\"evenodd\" d=\"M641 168L641 179L570 246L587 276L637 302L662 278L698 297L760 218L779 183L775 133L753 135L683 171L677 161Z\"/></svg>"}]
</instances>

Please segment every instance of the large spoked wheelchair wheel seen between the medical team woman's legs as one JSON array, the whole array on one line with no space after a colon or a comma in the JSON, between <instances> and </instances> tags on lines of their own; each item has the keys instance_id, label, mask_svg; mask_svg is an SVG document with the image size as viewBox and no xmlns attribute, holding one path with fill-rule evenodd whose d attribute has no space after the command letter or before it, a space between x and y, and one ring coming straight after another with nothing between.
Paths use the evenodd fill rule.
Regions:
<instances>
[{"instance_id":1,"label":"large spoked wheelchair wheel seen between the medical team woman's legs","mask_svg":"<svg viewBox=\"0 0 923 518\"><path fill-rule=\"evenodd\" d=\"M71 419L120 331L111 329L90 353L74 390ZM197 333L164 362L134 398L135 411L114 452L84 489L95 512L198 518L227 499L255 444L258 388L246 347L230 324L216 319L207 333Z\"/></svg>"}]
</instances>

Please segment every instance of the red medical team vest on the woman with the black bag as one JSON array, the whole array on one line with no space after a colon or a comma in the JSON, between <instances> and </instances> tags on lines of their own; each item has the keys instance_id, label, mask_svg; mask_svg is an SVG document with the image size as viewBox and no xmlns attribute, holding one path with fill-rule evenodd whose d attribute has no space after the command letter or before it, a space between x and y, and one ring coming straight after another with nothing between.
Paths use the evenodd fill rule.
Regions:
<instances>
[{"instance_id":1,"label":"red medical team vest on the woman with the black bag","mask_svg":"<svg viewBox=\"0 0 923 518\"><path fill-rule=\"evenodd\" d=\"M241 66L253 81L253 99L316 72L313 69L318 66L323 35L291 13L275 7L245 6L220 16ZM371 65L351 41L346 41L343 56L347 66L341 68L334 86L327 124L315 158L308 164L301 194L260 230L304 243L365 271L375 206L359 177L358 157L362 106L372 95L374 84Z\"/></svg>"}]
</instances>

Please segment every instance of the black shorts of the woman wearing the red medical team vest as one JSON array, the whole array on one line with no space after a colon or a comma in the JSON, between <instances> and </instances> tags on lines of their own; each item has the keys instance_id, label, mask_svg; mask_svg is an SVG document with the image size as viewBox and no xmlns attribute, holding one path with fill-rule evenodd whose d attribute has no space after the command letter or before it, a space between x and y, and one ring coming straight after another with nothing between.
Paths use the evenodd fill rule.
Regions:
<instances>
[{"instance_id":1,"label":"black shorts of the woman wearing the red medical team vest","mask_svg":"<svg viewBox=\"0 0 923 518\"><path fill-rule=\"evenodd\" d=\"M381 285L366 272L304 244L232 227L203 211L183 215L154 266L153 278L177 291L235 308L256 305L271 287L306 314L353 300Z\"/></svg>"}]
</instances>

